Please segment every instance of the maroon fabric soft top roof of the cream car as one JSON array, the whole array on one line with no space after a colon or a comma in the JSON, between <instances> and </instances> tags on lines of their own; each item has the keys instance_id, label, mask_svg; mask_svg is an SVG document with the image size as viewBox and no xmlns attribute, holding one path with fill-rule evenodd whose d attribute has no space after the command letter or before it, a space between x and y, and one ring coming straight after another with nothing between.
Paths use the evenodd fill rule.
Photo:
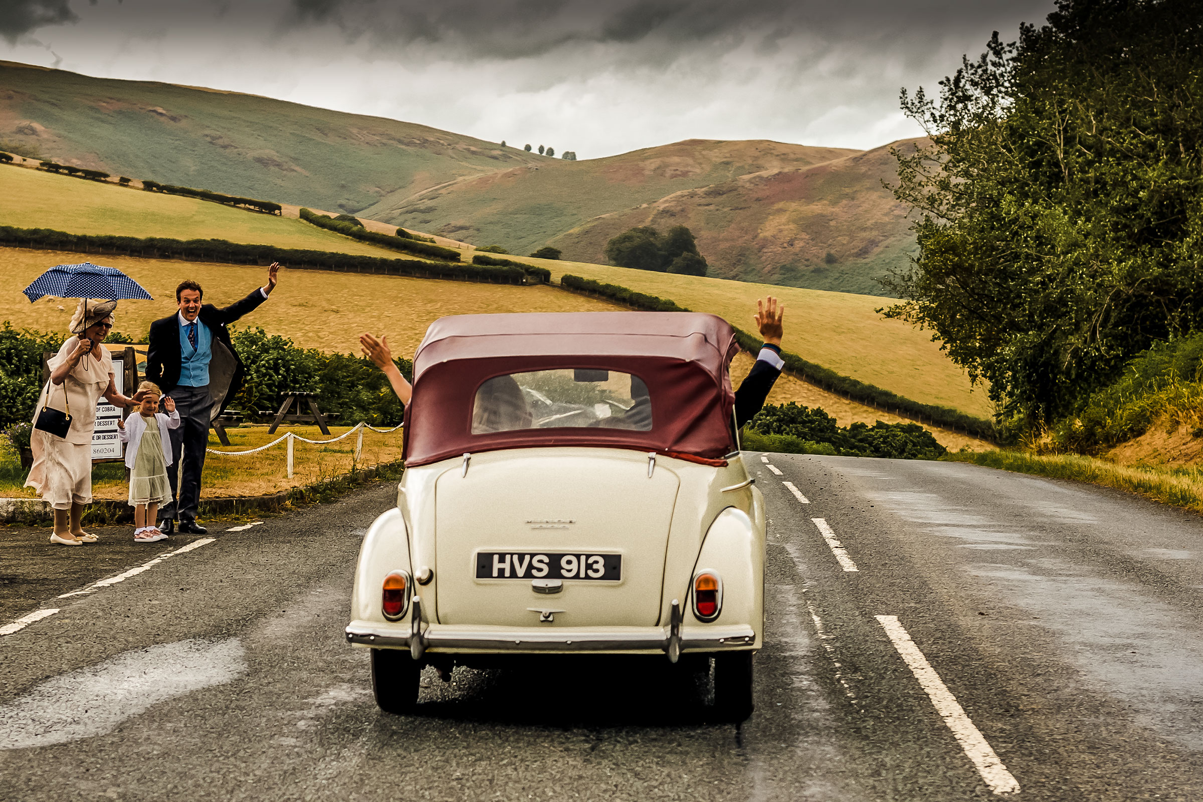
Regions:
<instances>
[{"instance_id":1,"label":"maroon fabric soft top roof of the cream car","mask_svg":"<svg viewBox=\"0 0 1203 802\"><path fill-rule=\"evenodd\" d=\"M435 320L414 356L405 462L534 446L611 446L721 462L734 450L728 366L739 346L722 317L700 313L587 311L456 315ZM597 368L639 376L648 432L561 427L472 434L476 388L503 374Z\"/></svg>"}]
</instances>

